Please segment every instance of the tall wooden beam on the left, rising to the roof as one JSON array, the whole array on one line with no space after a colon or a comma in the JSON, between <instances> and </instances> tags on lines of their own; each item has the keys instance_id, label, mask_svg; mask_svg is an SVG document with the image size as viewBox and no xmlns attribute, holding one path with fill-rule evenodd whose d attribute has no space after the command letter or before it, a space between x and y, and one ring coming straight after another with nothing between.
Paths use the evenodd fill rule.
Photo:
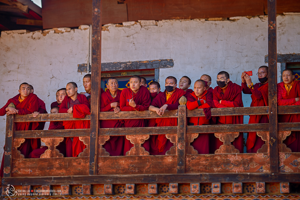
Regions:
<instances>
[{"instance_id":1,"label":"tall wooden beam on the left, rising to the roof","mask_svg":"<svg viewBox=\"0 0 300 200\"><path fill-rule=\"evenodd\" d=\"M102 1L93 0L92 16L92 89L91 89L91 134L89 174L97 174L98 162L98 128L100 111L101 83L101 14Z\"/></svg>"}]
</instances>

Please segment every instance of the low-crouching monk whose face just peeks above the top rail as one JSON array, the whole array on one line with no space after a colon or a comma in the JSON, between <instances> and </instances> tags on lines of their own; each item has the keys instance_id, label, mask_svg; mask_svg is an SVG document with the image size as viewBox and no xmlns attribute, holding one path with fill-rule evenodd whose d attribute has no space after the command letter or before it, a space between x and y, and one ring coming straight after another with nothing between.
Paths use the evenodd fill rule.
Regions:
<instances>
[{"instance_id":1,"label":"low-crouching monk whose face just peeks above the top rail","mask_svg":"<svg viewBox=\"0 0 300 200\"><path fill-rule=\"evenodd\" d=\"M54 106L53 108L51 108L50 113L59 113L59 107ZM49 128L48 130L61 130L64 129L63 127L63 122L50 122ZM62 153L64 155L64 157L72 157L72 142L71 140L69 140L71 142L71 145L69 145L69 147L71 148L68 152L71 152L70 155L66 155L66 138L64 138L64 141L59 143L58 146L56 146L56 149L59 150L60 153ZM46 146L41 146L41 148L35 149L33 150L30 154L29 154L29 158L40 158L40 156L45 153L45 151L48 149L48 147Z\"/></svg>"}]
</instances>

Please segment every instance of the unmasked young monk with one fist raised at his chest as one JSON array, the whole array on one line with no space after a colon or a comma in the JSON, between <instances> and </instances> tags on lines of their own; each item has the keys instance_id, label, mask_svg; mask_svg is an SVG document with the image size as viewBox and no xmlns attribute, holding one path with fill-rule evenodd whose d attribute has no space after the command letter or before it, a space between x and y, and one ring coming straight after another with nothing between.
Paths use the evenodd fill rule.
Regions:
<instances>
[{"instance_id":1,"label":"unmasked young monk with one fist raised at his chest","mask_svg":"<svg viewBox=\"0 0 300 200\"><path fill-rule=\"evenodd\" d=\"M130 88L125 88L122 90L120 96L120 108L121 111L145 111L148 110L151 99L149 90L141 85L141 77L134 75L130 78L129 84ZM126 119L124 120L125 128L133 127L145 127L145 119ZM149 151L149 140L146 140L142 146L146 151ZM133 147L128 139L125 138L124 153L128 152Z\"/></svg>"}]
</instances>

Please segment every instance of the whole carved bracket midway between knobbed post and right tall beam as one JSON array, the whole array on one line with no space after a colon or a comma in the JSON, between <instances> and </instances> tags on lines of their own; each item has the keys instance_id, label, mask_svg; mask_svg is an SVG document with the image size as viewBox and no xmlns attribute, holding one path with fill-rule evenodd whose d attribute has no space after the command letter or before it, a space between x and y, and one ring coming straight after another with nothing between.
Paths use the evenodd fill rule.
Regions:
<instances>
[{"instance_id":1,"label":"whole carved bracket midway between knobbed post and right tall beam","mask_svg":"<svg viewBox=\"0 0 300 200\"><path fill-rule=\"evenodd\" d=\"M239 132L229 132L229 133L215 133L215 137L219 138L223 145L215 151L215 154L224 154L224 153L240 153L231 142L239 136Z\"/></svg>"}]
</instances>

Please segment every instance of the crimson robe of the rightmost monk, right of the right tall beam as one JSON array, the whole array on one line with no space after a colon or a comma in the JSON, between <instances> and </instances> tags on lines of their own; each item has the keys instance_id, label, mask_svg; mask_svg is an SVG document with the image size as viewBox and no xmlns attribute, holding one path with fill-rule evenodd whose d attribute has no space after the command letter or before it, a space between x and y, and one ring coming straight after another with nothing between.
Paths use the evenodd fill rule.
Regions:
<instances>
[{"instance_id":1,"label":"crimson robe of the rightmost monk, right of the right tall beam","mask_svg":"<svg viewBox=\"0 0 300 200\"><path fill-rule=\"evenodd\" d=\"M284 87L284 83L277 84L277 104L278 106L294 106L300 105L300 101L295 101L295 98L300 95L300 81L295 81L289 93ZM300 122L300 114L292 115L278 115L279 123L296 123ZM300 152L300 131L292 131L291 135L287 136L282 141L283 144L287 145L292 152Z\"/></svg>"}]
</instances>

